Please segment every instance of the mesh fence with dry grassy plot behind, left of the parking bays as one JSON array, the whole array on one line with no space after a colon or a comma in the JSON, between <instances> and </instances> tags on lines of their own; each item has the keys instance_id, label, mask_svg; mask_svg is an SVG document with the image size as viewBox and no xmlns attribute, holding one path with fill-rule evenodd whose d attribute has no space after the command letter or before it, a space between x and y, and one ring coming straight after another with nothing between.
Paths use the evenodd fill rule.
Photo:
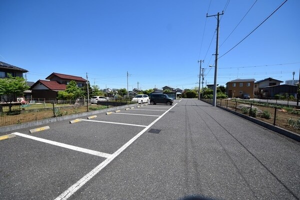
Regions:
<instances>
[{"instance_id":1,"label":"mesh fence with dry grassy plot behind, left of the parking bays","mask_svg":"<svg viewBox=\"0 0 300 200\"><path fill-rule=\"evenodd\" d=\"M119 106L135 103L126 100L109 100L97 105L87 104L84 100L59 100L40 101L34 103L13 103L11 109L6 103L0 104L0 126L20 124L29 121L41 120L51 117L63 116L86 112L88 110L105 109L112 106Z\"/></svg>"}]
</instances>

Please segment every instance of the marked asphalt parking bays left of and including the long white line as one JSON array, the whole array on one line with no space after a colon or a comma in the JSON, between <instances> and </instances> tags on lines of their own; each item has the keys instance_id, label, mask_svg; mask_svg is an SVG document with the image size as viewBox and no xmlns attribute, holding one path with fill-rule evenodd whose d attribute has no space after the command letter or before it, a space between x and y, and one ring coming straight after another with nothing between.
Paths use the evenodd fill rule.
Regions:
<instances>
[{"instance_id":1,"label":"marked asphalt parking bays left of and including the long white line","mask_svg":"<svg viewBox=\"0 0 300 200\"><path fill-rule=\"evenodd\" d=\"M76 123L53 122L32 134L28 128L11 131L16 137L0 141L1 199L70 196L173 106L135 106Z\"/></svg>"}]
</instances>

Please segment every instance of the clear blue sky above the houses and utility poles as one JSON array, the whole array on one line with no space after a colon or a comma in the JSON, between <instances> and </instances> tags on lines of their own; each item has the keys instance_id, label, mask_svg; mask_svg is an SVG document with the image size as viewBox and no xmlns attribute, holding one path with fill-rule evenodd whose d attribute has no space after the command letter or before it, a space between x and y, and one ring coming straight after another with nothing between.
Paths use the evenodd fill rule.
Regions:
<instances>
[{"instance_id":1,"label":"clear blue sky above the houses and utility poles","mask_svg":"<svg viewBox=\"0 0 300 200\"><path fill-rule=\"evenodd\" d=\"M208 65L214 64L217 21L206 13L224 10L218 84L235 78L285 81L293 71L298 79L300 0L287 0L223 55L284 0L255 1L1 0L0 60L27 69L28 81L52 72L83 78L87 73L100 88L127 88L128 71L131 90L137 82L141 89L194 88L197 60L204 59L205 86L213 83L214 69Z\"/></svg>"}]
</instances>

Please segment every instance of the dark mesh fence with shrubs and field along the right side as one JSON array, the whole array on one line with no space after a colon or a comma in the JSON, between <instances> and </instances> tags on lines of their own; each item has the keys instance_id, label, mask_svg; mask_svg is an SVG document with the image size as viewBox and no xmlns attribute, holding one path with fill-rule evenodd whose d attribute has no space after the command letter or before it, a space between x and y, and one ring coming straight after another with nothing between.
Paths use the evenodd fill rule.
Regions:
<instances>
[{"instance_id":1,"label":"dark mesh fence with shrubs and field along the right side","mask_svg":"<svg viewBox=\"0 0 300 200\"><path fill-rule=\"evenodd\" d=\"M201 99L212 103L212 99ZM300 110L291 105L248 100L217 99L216 104L300 134Z\"/></svg>"}]
</instances>

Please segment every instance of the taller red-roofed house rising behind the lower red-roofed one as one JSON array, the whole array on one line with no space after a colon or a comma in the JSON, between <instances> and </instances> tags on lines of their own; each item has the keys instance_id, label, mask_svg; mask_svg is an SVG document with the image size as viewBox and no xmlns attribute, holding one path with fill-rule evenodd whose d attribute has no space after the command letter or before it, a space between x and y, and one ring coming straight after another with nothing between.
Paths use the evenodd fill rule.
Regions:
<instances>
[{"instance_id":1,"label":"taller red-roofed house rising behind the lower red-roofed one","mask_svg":"<svg viewBox=\"0 0 300 200\"><path fill-rule=\"evenodd\" d=\"M56 81L59 84L68 84L71 80L74 80L77 83L78 87L83 87L86 84L86 79L75 76L75 75L67 75L62 73L56 73L53 72L48 77L46 77L47 80Z\"/></svg>"}]
</instances>

